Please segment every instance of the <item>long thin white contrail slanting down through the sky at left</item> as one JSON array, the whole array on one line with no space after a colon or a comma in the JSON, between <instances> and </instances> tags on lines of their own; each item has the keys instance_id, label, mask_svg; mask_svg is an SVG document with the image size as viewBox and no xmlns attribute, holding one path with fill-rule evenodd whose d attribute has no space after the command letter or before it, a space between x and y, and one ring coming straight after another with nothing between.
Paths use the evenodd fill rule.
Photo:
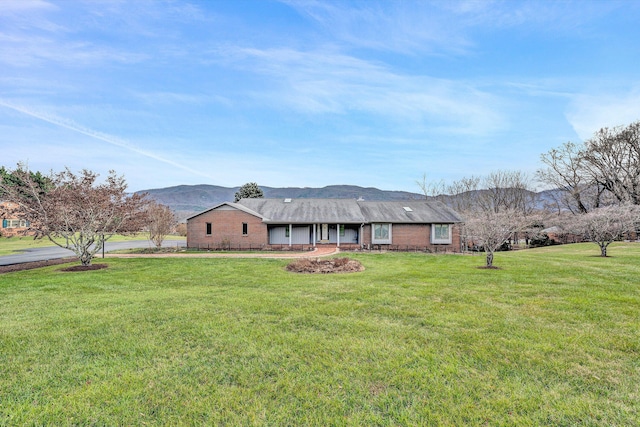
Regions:
<instances>
[{"instance_id":1,"label":"long thin white contrail slanting down through the sky at left","mask_svg":"<svg viewBox=\"0 0 640 427\"><path fill-rule=\"evenodd\" d=\"M160 156L160 155L158 155L156 153L153 153L151 151L141 149L141 148L135 146L134 144L132 144L131 142L126 141L126 140L124 140L122 138L118 138L118 137L113 136L113 135L109 135L109 134L106 134L106 133L98 132L98 131L95 131L93 129L88 129L86 127L83 127L83 126L73 122L72 120L63 119L61 117L57 117L57 116L49 114L49 113L42 113L42 112L39 112L39 111L35 111L32 108L24 107L24 106L21 106L21 105L16 105L16 104L13 104L13 103L8 102L8 101L3 100L3 99L0 99L0 106L9 108L9 109L14 110L14 111L18 111L20 113L26 114L26 115L31 116L31 117L35 117L37 119L40 119L40 120L45 121L47 123L50 123L52 125L59 126L59 127L62 127L62 128L65 128L65 129L69 129L71 131L86 135L86 136L88 136L90 138L106 142L106 143L108 143L110 145L113 145L113 146L116 146L116 147L120 147L120 148L124 148L126 150L129 150L129 151L135 153L135 154L139 154L141 156L144 156L144 157L147 157L147 158L150 158L150 159L153 159L153 160L157 160L157 161L159 161L161 163L165 163L165 164L174 166L176 168L179 168L179 169L182 169L184 171L187 171L187 172L189 172L191 174L202 176L202 177L206 177L206 178L211 178L209 175L207 175L205 173L202 173L202 172L200 172L198 170L195 170L193 168L190 168L188 166L185 166L183 164L175 162L175 161L173 161L171 159L167 159L165 157L162 157L162 156Z\"/></svg>"}]
</instances>

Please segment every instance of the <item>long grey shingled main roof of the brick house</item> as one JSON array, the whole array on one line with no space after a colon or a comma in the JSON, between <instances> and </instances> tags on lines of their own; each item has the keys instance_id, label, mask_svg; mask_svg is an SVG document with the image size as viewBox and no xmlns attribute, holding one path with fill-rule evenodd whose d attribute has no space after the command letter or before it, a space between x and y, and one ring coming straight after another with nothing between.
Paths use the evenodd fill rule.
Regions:
<instances>
[{"instance_id":1,"label":"long grey shingled main roof of the brick house","mask_svg":"<svg viewBox=\"0 0 640 427\"><path fill-rule=\"evenodd\" d=\"M362 224L430 224L461 222L460 216L438 201L357 201L354 199L242 199L239 205L264 222Z\"/></svg>"}]
</instances>

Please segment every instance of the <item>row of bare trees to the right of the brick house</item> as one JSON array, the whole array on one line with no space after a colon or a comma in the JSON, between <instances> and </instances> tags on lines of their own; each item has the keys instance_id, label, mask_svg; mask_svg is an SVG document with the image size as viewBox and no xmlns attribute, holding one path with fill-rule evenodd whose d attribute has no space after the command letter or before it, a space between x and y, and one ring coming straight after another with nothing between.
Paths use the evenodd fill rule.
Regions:
<instances>
[{"instance_id":1,"label":"row of bare trees to the right of the brick house","mask_svg":"<svg viewBox=\"0 0 640 427\"><path fill-rule=\"evenodd\" d=\"M453 181L417 181L425 197L462 214L465 246L480 244L487 254L511 239L539 235L543 226L607 247L640 231L640 121L602 128L582 144L567 142L540 156L535 181L554 191L540 200L534 179L521 171L495 171Z\"/></svg>"}]
</instances>

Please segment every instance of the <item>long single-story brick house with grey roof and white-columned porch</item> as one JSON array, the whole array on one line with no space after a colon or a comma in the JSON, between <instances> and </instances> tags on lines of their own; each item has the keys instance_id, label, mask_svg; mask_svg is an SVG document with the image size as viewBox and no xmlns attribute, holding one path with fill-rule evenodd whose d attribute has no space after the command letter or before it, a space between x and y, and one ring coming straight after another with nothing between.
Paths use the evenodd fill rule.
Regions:
<instances>
[{"instance_id":1,"label":"long single-story brick house with grey roof and white-columned porch","mask_svg":"<svg viewBox=\"0 0 640 427\"><path fill-rule=\"evenodd\" d=\"M187 247L459 252L461 221L435 200L242 199L187 218Z\"/></svg>"}]
</instances>

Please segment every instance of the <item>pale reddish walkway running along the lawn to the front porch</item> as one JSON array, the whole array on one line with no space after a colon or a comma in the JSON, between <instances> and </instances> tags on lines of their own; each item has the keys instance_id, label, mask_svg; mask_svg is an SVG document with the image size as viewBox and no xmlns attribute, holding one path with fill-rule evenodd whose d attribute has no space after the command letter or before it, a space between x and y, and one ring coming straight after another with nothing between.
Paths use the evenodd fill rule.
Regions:
<instances>
[{"instance_id":1,"label":"pale reddish walkway running along the lawn to the front porch","mask_svg":"<svg viewBox=\"0 0 640 427\"><path fill-rule=\"evenodd\" d=\"M336 245L319 245L312 251L304 252L195 252L195 253L160 253L160 254L106 254L106 258L318 258L340 253ZM100 259L100 257L95 258Z\"/></svg>"}]
</instances>

